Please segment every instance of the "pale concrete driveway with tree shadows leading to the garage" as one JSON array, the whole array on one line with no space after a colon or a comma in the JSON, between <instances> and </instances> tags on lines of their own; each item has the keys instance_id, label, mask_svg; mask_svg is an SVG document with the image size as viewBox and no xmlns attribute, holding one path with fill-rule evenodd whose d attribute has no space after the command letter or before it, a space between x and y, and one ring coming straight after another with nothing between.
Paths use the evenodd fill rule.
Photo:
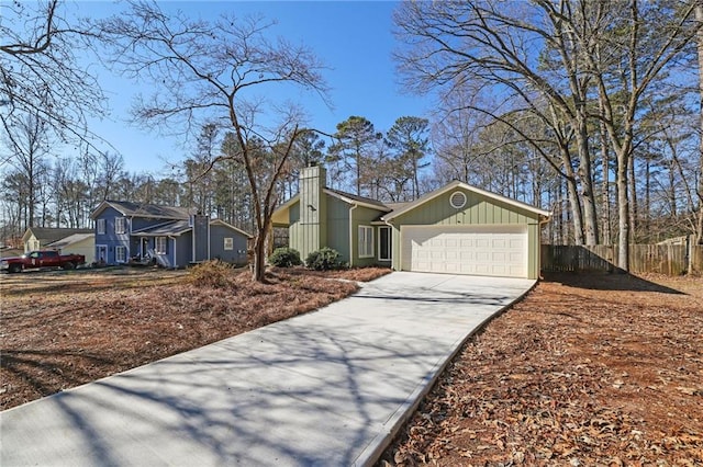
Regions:
<instances>
[{"instance_id":1,"label":"pale concrete driveway with tree shadows leading to the garage","mask_svg":"<svg viewBox=\"0 0 703 467\"><path fill-rule=\"evenodd\" d=\"M397 272L353 297L0 413L0 465L362 466L529 280Z\"/></svg>"}]
</instances>

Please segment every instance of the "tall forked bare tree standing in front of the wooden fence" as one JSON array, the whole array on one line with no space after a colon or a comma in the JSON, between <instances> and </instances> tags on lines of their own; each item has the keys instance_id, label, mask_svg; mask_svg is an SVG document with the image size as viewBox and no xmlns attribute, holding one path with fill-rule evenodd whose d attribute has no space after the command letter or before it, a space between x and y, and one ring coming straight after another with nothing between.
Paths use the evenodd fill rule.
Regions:
<instances>
[{"instance_id":1,"label":"tall forked bare tree standing in front of the wooden fence","mask_svg":"<svg viewBox=\"0 0 703 467\"><path fill-rule=\"evenodd\" d=\"M589 72L598 89L599 118L603 123L617 164L618 267L629 271L631 160L634 157L638 111L646 92L667 66L680 59L692 44L700 24L692 21L698 0L609 3L617 31L587 47ZM571 25L577 37L578 25ZM615 65L615 66L613 66Z\"/></svg>"}]
</instances>

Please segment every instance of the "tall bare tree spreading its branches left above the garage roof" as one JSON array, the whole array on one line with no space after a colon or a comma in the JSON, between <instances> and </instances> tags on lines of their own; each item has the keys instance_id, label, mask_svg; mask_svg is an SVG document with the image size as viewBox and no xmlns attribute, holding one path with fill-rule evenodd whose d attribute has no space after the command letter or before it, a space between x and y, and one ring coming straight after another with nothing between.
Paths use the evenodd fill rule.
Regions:
<instances>
[{"instance_id":1,"label":"tall bare tree spreading its branches left above the garage roof","mask_svg":"<svg viewBox=\"0 0 703 467\"><path fill-rule=\"evenodd\" d=\"M555 170L567 176L574 221L583 219L574 229L576 242L595 244L587 110L591 79L582 72L577 44L563 31L565 21L547 13L549 3L404 2L395 22L409 47L398 58L410 89L438 89L446 96L476 87L491 99L468 103L471 110L495 119L531 111L549 122L562 155L562 169L555 166ZM542 140L532 143L537 150L544 146ZM569 173L572 170L578 172Z\"/></svg>"}]
</instances>

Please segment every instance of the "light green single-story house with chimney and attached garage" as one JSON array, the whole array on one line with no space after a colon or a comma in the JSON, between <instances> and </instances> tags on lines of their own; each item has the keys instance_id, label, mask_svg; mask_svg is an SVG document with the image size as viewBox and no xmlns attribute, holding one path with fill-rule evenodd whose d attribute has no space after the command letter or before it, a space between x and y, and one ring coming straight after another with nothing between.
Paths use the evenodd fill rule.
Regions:
<instances>
[{"instance_id":1,"label":"light green single-story house with chimney and attached garage","mask_svg":"<svg viewBox=\"0 0 703 467\"><path fill-rule=\"evenodd\" d=\"M328 189L322 167L301 170L300 193L274 213L291 248L337 250L350 266L537 278L549 213L454 181L411 203Z\"/></svg>"}]
</instances>

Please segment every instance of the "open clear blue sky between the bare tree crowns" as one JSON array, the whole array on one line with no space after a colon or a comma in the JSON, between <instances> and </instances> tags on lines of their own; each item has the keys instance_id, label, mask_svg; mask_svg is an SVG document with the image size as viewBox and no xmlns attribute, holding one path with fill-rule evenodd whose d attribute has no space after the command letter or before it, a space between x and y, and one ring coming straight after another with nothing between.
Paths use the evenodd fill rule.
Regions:
<instances>
[{"instance_id":1,"label":"open clear blue sky between the bare tree crowns","mask_svg":"<svg viewBox=\"0 0 703 467\"><path fill-rule=\"evenodd\" d=\"M337 123L350 115L361 115L373 123L377 130L388 130L395 118L426 116L429 99L402 93L395 76L391 54L397 48L392 35L392 12L397 2L390 1L202 1L160 2L164 10L181 11L203 19L216 18L221 12L238 15L261 13L278 24L270 31L288 41L309 46L330 68L324 77L332 88L330 109L316 95L300 93L293 96L310 117L311 126L334 133ZM79 15L104 15L122 7L108 2L77 2ZM129 109L138 88L131 81L105 75L102 86L110 95L109 118L93 121L91 129L110 141L132 172L166 175L165 161L182 160L192 148L183 138L164 138L154 130L127 123ZM142 92L148 92L143 89ZM112 150L114 151L114 150Z\"/></svg>"}]
</instances>

